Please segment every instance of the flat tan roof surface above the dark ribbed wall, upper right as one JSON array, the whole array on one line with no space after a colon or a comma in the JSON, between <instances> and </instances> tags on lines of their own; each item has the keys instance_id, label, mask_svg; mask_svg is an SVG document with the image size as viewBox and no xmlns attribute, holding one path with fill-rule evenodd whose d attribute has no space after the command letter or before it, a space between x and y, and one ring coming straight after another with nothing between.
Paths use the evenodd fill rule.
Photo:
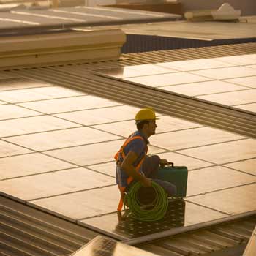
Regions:
<instances>
[{"instance_id":1,"label":"flat tan roof surface above the dark ribbed wall, upper right","mask_svg":"<svg viewBox=\"0 0 256 256\"><path fill-rule=\"evenodd\" d=\"M115 26L116 27L116 26ZM240 22L188 22L187 20L118 25L126 34L177 37L199 40L256 37L256 16L241 17Z\"/></svg>"}]
</instances>

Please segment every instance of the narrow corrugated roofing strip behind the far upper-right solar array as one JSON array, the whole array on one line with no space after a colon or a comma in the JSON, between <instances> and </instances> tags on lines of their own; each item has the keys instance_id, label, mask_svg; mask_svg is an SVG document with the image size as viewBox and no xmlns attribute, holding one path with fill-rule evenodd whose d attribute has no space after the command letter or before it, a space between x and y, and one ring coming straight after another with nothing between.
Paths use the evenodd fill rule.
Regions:
<instances>
[{"instance_id":1,"label":"narrow corrugated roofing strip behind the far upper-right solar array","mask_svg":"<svg viewBox=\"0 0 256 256\"><path fill-rule=\"evenodd\" d=\"M83 65L83 69L102 69L110 67L122 67L140 64L154 64L158 62L168 61L183 61L189 59L210 59L223 56L238 56L244 54L256 53L256 43L244 43L237 45L219 45L202 48L187 48L177 50L157 50L145 53L128 53L121 54L121 58L118 60L104 60L104 61L66 61L65 63L51 63L51 64L34 64L29 67L67 67L74 66L80 67ZM17 67L22 69L22 67ZM4 69L4 68L2 68ZM16 67L8 67L6 70L16 69Z\"/></svg>"}]
</instances>

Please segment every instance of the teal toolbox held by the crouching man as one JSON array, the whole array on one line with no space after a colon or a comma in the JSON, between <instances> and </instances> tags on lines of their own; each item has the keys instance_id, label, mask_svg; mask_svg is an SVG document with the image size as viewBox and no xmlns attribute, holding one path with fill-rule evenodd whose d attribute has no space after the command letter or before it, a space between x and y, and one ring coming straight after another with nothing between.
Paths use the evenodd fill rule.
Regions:
<instances>
[{"instance_id":1,"label":"teal toolbox held by the crouching man","mask_svg":"<svg viewBox=\"0 0 256 256\"><path fill-rule=\"evenodd\" d=\"M174 166L173 162L170 162L171 166L159 167L157 178L163 181L169 181L174 184L177 189L175 197L186 197L187 194L187 167L186 166Z\"/></svg>"}]
</instances>

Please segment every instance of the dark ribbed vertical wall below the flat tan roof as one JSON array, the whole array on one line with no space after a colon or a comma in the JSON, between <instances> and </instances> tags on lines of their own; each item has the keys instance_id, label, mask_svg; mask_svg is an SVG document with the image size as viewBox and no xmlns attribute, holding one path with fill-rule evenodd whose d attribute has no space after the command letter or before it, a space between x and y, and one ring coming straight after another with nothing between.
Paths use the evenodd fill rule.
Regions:
<instances>
[{"instance_id":1,"label":"dark ribbed vertical wall below the flat tan roof","mask_svg":"<svg viewBox=\"0 0 256 256\"><path fill-rule=\"evenodd\" d=\"M198 40L177 37L159 37L143 34L127 34L127 42L121 53L138 53L151 50L173 50L182 48L199 48L215 45L241 44L256 42L256 38Z\"/></svg>"}]
</instances>

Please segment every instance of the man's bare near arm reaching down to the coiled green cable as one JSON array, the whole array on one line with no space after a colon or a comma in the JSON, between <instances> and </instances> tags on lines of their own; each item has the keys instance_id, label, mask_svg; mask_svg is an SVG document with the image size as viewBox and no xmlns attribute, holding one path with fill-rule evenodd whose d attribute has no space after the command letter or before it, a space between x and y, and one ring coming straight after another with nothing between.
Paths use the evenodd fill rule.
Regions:
<instances>
[{"instance_id":1,"label":"man's bare near arm reaching down to the coiled green cable","mask_svg":"<svg viewBox=\"0 0 256 256\"><path fill-rule=\"evenodd\" d=\"M132 176L136 181L141 181L144 187L151 187L151 180L138 173L132 165L136 159L138 159L138 155L135 152L129 151L121 163L121 169L123 169L128 176Z\"/></svg>"}]
</instances>

